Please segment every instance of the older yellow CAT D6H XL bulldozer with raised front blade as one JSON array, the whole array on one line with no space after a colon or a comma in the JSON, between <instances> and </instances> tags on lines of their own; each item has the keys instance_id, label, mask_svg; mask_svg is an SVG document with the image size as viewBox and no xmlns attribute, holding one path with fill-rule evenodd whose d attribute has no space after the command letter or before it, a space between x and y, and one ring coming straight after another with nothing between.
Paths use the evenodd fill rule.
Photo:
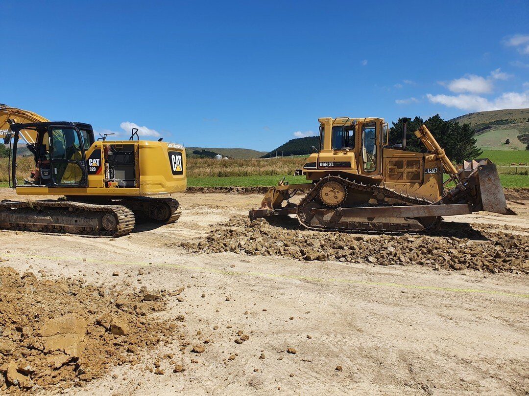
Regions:
<instances>
[{"instance_id":1,"label":"older yellow CAT D6H XL bulldozer with raised front blade","mask_svg":"<svg viewBox=\"0 0 529 396\"><path fill-rule=\"evenodd\" d=\"M313 230L402 233L428 232L441 216L489 211L515 214L507 208L496 165L488 159L454 167L426 126L415 131L426 153L389 146L382 118L320 118L319 148L313 146L296 171L312 183L271 187L250 218L295 214ZM443 182L443 172L449 179ZM445 186L453 183L450 191ZM298 204L290 199L307 191Z\"/></svg>"}]
</instances>

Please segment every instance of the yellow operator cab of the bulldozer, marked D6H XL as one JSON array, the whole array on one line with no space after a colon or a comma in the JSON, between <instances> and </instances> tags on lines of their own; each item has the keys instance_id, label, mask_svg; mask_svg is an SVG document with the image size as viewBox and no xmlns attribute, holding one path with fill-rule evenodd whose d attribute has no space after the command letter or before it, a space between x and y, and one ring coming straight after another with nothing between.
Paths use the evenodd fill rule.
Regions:
<instances>
[{"instance_id":1,"label":"yellow operator cab of the bulldozer, marked D6H XL","mask_svg":"<svg viewBox=\"0 0 529 396\"><path fill-rule=\"evenodd\" d=\"M388 129L383 119L338 117L318 121L320 148L311 156L315 159L314 166L305 166L304 170L381 175L382 145Z\"/></svg>"}]
</instances>

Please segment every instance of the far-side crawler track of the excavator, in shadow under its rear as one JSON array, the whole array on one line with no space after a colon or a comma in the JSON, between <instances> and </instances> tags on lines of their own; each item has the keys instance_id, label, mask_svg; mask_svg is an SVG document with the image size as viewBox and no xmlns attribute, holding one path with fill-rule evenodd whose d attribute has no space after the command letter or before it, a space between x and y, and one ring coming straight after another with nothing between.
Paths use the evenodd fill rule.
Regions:
<instances>
[{"instance_id":1,"label":"far-side crawler track of the excavator, in shadow under its rear","mask_svg":"<svg viewBox=\"0 0 529 396\"><path fill-rule=\"evenodd\" d=\"M120 204L132 210L140 221L171 224L176 222L182 214L180 203L173 198L138 196L120 201Z\"/></svg>"}]
</instances>

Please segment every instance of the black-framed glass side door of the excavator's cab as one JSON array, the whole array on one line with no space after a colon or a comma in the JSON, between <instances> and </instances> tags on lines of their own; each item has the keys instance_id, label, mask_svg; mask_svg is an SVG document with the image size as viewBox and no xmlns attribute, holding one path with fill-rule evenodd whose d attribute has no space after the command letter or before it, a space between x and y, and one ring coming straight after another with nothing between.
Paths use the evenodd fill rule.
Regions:
<instances>
[{"instance_id":1,"label":"black-framed glass side door of the excavator's cab","mask_svg":"<svg viewBox=\"0 0 529 396\"><path fill-rule=\"evenodd\" d=\"M49 126L51 185L87 187L86 155L83 137L74 126Z\"/></svg>"}]
</instances>

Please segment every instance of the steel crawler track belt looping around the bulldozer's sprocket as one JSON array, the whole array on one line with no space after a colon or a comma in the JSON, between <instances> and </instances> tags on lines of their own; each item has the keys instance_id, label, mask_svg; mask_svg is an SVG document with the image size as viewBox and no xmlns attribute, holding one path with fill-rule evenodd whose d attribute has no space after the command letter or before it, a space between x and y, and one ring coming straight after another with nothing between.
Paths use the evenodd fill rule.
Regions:
<instances>
[{"instance_id":1,"label":"steel crawler track belt looping around the bulldozer's sprocket","mask_svg":"<svg viewBox=\"0 0 529 396\"><path fill-rule=\"evenodd\" d=\"M297 217L300 223L306 228L316 231L346 231L346 232L362 232L362 233L385 233L385 234L402 234L402 233L425 233L434 231L441 224L442 218L436 216L434 218L427 218L426 224L418 222L416 219L396 219L391 218L369 220L360 219L359 221L345 221L345 222L326 222L323 218L318 218L316 223L312 220L314 215L310 212L313 208L322 208L316 199L320 195L320 190L327 182L341 183L349 191L358 191L372 194L373 199L381 200L394 199L402 201L406 204L413 205L429 205L432 202L421 197L410 196L391 190L383 185L363 184L348 180L340 176L326 176L317 182L311 191L299 202L297 207Z\"/></svg>"}]
</instances>

